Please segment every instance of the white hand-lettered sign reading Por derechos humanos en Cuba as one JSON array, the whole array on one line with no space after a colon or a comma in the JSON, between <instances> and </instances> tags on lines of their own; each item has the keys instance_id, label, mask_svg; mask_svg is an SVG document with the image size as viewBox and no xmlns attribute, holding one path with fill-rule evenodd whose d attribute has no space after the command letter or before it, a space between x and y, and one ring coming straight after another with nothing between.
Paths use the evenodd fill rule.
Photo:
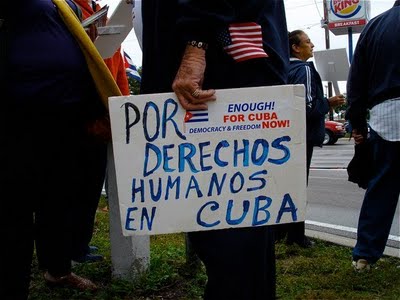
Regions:
<instances>
[{"instance_id":1,"label":"white hand-lettered sign reading Por derechos humanos en Cuba","mask_svg":"<svg viewBox=\"0 0 400 300\"><path fill-rule=\"evenodd\" d=\"M173 93L110 98L124 235L304 221L304 87L216 96L206 111Z\"/></svg>"}]
</instances>

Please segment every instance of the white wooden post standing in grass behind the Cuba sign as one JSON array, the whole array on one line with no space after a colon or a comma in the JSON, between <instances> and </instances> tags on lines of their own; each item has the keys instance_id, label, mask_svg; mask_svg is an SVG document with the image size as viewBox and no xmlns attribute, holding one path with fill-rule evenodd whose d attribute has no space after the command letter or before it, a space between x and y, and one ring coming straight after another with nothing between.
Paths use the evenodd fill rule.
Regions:
<instances>
[{"instance_id":1,"label":"white wooden post standing in grass behind the Cuba sign","mask_svg":"<svg viewBox=\"0 0 400 300\"><path fill-rule=\"evenodd\" d=\"M107 155L112 274L114 277L129 280L147 270L149 266L150 237L125 237L122 235L114 155L111 144L108 146Z\"/></svg>"}]
</instances>

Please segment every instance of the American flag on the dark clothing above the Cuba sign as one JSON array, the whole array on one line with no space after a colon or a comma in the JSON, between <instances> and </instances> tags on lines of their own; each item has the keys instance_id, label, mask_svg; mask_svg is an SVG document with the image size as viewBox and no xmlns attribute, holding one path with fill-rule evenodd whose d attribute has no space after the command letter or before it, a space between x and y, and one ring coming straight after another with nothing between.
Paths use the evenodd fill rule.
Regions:
<instances>
[{"instance_id":1,"label":"American flag on the dark clothing above the Cuba sign","mask_svg":"<svg viewBox=\"0 0 400 300\"><path fill-rule=\"evenodd\" d=\"M233 23L219 36L224 50L237 62L268 57L262 43L261 26L254 22Z\"/></svg>"}]
</instances>

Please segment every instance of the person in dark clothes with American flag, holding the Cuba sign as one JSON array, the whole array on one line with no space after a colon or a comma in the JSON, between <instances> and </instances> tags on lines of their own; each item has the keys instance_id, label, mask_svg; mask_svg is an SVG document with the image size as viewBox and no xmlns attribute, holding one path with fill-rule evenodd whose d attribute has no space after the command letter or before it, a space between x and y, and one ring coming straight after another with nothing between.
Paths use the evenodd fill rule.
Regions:
<instances>
[{"instance_id":1,"label":"person in dark clothes with American flag, holding the Cuba sign","mask_svg":"<svg viewBox=\"0 0 400 300\"><path fill-rule=\"evenodd\" d=\"M285 84L283 1L142 2L142 93L175 92L182 109L206 109L214 89ZM238 36L241 36L238 42ZM205 299L274 299L270 227L189 233L204 262Z\"/></svg>"}]
</instances>

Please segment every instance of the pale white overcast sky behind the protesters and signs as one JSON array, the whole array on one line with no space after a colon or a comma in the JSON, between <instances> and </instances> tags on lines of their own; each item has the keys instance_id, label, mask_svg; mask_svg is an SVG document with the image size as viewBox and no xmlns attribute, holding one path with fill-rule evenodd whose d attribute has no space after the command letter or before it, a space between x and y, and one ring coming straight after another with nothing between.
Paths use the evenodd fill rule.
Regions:
<instances>
[{"instance_id":1,"label":"pale white overcast sky behind the protesters and signs","mask_svg":"<svg viewBox=\"0 0 400 300\"><path fill-rule=\"evenodd\" d=\"M100 0L99 4L108 4L110 6L110 16L119 1L120 0ZM304 30L314 43L315 51L325 49L325 31L321 28L321 19L324 16L323 1L284 0L284 2L286 7L288 30ZM393 6L393 3L394 0L371 0L371 18L388 10ZM359 34L353 34L354 47L357 43L358 36ZM348 48L348 35L336 36L330 33L329 38L331 49ZM122 48L129 54L136 66L142 65L142 53L133 30L123 42Z\"/></svg>"}]
</instances>

